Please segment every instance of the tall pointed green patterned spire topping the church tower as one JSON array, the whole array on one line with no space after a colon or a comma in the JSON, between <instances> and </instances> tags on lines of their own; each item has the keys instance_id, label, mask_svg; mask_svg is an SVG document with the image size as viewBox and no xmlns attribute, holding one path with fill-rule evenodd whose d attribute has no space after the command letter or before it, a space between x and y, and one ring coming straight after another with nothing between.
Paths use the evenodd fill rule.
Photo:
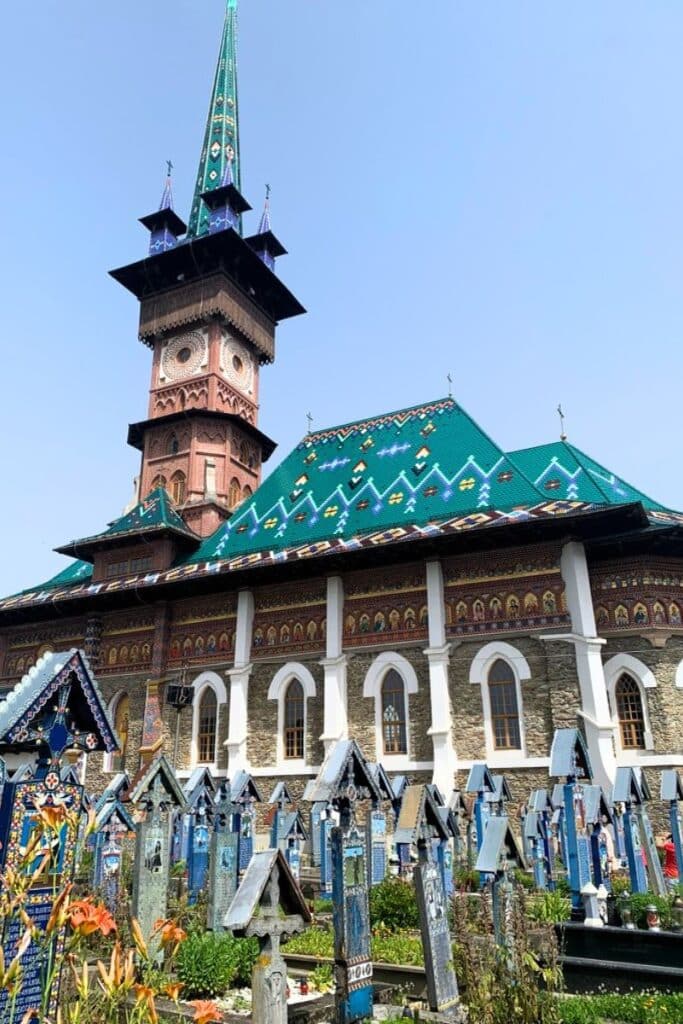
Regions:
<instances>
[{"instance_id":1,"label":"tall pointed green patterned spire topping the church tower","mask_svg":"<svg viewBox=\"0 0 683 1024\"><path fill-rule=\"evenodd\" d=\"M210 214L202 195L224 181L226 165L231 184L240 190L240 126L238 117L238 0L227 0L218 66L213 83L204 145L189 215L190 236L209 231Z\"/></svg>"}]
</instances>

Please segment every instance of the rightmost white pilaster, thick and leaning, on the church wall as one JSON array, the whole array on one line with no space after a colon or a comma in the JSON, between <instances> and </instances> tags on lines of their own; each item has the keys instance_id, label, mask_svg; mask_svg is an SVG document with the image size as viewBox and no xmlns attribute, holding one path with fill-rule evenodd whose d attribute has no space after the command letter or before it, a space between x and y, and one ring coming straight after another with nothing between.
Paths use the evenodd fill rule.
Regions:
<instances>
[{"instance_id":1,"label":"rightmost white pilaster, thick and leaning, on the church wall","mask_svg":"<svg viewBox=\"0 0 683 1024\"><path fill-rule=\"evenodd\" d=\"M597 636L591 581L583 544L571 541L564 545L560 569L564 580L567 608L571 616L571 635L549 636L548 639L562 639L573 644L581 690L581 715L585 723L593 774L596 782L601 785L611 785L616 762L612 740L613 726L600 654L605 641Z\"/></svg>"}]
</instances>

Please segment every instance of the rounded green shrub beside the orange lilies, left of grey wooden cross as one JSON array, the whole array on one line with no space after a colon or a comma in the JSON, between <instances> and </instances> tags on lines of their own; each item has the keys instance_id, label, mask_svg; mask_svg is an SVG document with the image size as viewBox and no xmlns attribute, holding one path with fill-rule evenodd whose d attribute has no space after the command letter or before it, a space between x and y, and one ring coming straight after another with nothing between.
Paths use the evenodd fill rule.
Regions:
<instances>
[{"instance_id":1,"label":"rounded green shrub beside the orange lilies, left of grey wooden cross","mask_svg":"<svg viewBox=\"0 0 683 1024\"><path fill-rule=\"evenodd\" d=\"M227 991L238 973L239 941L231 935L213 932L193 932L187 936L176 954L184 998L211 998Z\"/></svg>"}]
</instances>

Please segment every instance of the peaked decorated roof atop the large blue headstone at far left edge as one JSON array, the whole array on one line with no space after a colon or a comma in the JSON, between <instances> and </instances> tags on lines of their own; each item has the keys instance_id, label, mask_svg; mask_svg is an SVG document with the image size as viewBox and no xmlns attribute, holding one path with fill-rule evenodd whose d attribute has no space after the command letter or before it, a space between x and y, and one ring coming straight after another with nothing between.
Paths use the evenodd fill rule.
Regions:
<instances>
[{"instance_id":1,"label":"peaked decorated roof atop the large blue headstone at far left edge","mask_svg":"<svg viewBox=\"0 0 683 1024\"><path fill-rule=\"evenodd\" d=\"M121 745L88 659L76 647L43 654L0 703L0 750L45 745L59 757L70 746L113 754Z\"/></svg>"}]
</instances>

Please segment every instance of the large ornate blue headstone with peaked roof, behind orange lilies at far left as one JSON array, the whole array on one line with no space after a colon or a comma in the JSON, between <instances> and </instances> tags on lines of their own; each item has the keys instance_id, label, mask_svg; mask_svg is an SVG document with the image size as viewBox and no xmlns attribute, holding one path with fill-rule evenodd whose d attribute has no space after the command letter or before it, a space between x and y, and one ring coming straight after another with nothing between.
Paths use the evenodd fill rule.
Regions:
<instances>
[{"instance_id":1,"label":"large ornate blue headstone with peaked roof, behind orange lilies at far left","mask_svg":"<svg viewBox=\"0 0 683 1024\"><path fill-rule=\"evenodd\" d=\"M37 758L33 773L18 770L6 779L4 770L0 796L0 864L3 870L37 871L31 897L24 908L38 933L44 931L52 910L55 892L72 879L79 837L78 817L83 806L83 786L62 780L70 750L114 754L119 741L109 719L87 658L71 649L41 657L0 703L0 755L6 758ZM41 822L43 809L63 806L76 816L76 823L47 825ZM24 851L34 835L41 847L31 864ZM12 916L1 937L4 962L9 964L26 931L25 922ZM45 991L45 970L55 948L63 947L65 933L52 943L32 939L22 957L22 984L15 998L0 991L0 1020L17 1024L30 1011L42 1010L53 1016L59 997L54 979Z\"/></svg>"}]
</instances>

